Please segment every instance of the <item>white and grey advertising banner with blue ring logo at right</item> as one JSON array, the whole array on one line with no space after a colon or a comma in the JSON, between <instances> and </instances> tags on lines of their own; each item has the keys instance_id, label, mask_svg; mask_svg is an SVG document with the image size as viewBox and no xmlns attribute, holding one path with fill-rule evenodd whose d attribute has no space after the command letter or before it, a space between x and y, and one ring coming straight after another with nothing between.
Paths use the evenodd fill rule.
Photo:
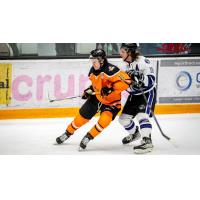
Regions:
<instances>
[{"instance_id":1,"label":"white and grey advertising banner with blue ring logo at right","mask_svg":"<svg viewBox=\"0 0 200 200\"><path fill-rule=\"evenodd\" d=\"M163 59L158 78L159 103L200 103L200 59Z\"/></svg>"}]
</instances>

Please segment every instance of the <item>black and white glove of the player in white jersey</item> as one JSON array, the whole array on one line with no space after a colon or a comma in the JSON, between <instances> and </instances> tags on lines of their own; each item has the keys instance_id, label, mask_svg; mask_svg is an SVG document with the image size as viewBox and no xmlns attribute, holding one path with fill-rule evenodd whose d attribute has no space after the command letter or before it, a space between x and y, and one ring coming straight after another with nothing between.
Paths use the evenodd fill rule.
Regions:
<instances>
[{"instance_id":1,"label":"black and white glove of the player in white jersey","mask_svg":"<svg viewBox=\"0 0 200 200\"><path fill-rule=\"evenodd\" d=\"M136 71L136 70L130 70L126 72L130 78L133 80L133 87L144 87L144 74Z\"/></svg>"}]
</instances>

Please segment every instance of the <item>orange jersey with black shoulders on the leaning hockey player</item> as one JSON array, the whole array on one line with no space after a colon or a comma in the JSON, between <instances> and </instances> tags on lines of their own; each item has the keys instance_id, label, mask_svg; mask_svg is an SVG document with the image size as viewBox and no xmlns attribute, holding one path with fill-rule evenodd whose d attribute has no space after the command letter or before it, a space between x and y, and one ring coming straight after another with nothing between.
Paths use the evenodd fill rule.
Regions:
<instances>
[{"instance_id":1,"label":"orange jersey with black shoulders on the leaning hockey player","mask_svg":"<svg viewBox=\"0 0 200 200\"><path fill-rule=\"evenodd\" d=\"M121 106L121 92L126 90L131 83L130 77L125 72L110 63L102 66L100 70L94 70L92 67L89 79L92 81L97 99L110 106ZM107 96L102 96L103 87L112 88L113 91Z\"/></svg>"}]
</instances>

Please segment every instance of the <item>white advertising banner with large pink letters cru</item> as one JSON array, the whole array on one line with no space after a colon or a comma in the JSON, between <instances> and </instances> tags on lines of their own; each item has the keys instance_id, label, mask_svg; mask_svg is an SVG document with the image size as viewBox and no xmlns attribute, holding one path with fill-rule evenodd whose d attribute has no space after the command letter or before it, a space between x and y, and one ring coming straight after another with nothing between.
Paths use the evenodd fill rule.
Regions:
<instances>
[{"instance_id":1,"label":"white advertising banner with large pink letters cru","mask_svg":"<svg viewBox=\"0 0 200 200\"><path fill-rule=\"evenodd\" d=\"M125 68L121 59L109 59L109 62ZM89 59L12 60L0 63L10 63L13 69L11 103L0 104L1 109L80 107L85 101L81 98L50 100L81 95L91 84L88 79ZM156 70L157 61L152 60L152 65ZM123 93L122 103L127 95Z\"/></svg>"}]
</instances>

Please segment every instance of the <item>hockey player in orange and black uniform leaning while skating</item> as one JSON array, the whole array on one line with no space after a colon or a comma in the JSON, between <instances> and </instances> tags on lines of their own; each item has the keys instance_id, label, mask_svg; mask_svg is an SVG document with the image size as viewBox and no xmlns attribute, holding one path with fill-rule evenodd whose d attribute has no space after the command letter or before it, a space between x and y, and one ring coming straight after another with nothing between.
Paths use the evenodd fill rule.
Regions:
<instances>
[{"instance_id":1,"label":"hockey player in orange and black uniform leaning while skating","mask_svg":"<svg viewBox=\"0 0 200 200\"><path fill-rule=\"evenodd\" d=\"M68 125L64 134L56 138L58 144L65 142L81 126L100 112L98 122L83 137L80 149L85 149L88 142L99 135L115 119L121 109L121 92L129 87L129 76L118 67L108 63L106 53L102 49L91 51L92 67L89 79L92 85L82 96L87 101L79 110L79 114Z\"/></svg>"}]
</instances>

